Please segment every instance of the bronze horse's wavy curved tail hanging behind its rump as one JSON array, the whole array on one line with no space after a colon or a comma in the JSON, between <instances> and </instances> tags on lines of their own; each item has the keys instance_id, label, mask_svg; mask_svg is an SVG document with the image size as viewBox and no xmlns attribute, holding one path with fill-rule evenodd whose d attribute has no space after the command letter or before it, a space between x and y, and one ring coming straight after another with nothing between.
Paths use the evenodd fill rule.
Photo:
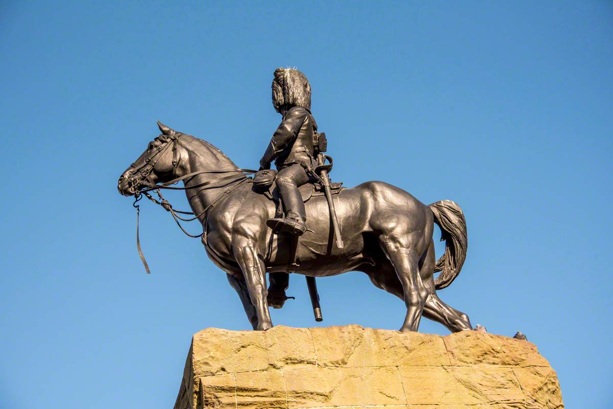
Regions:
<instances>
[{"instance_id":1,"label":"bronze horse's wavy curved tail hanging behind its rump","mask_svg":"<svg viewBox=\"0 0 613 409\"><path fill-rule=\"evenodd\" d=\"M434 222L441 228L441 241L445 241L445 253L434 266L434 272L441 271L435 280L436 290L439 290L455 280L466 260L466 219L460 206L451 200L437 201L428 207L434 214Z\"/></svg>"}]
</instances>

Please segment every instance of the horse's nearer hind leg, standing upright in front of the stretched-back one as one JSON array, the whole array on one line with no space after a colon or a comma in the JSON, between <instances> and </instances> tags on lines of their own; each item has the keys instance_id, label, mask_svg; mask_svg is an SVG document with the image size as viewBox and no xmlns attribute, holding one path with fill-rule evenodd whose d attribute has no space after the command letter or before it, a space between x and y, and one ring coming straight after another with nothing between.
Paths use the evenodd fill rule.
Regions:
<instances>
[{"instance_id":1,"label":"horse's nearer hind leg, standing upright in front of the stretched-back one","mask_svg":"<svg viewBox=\"0 0 613 409\"><path fill-rule=\"evenodd\" d=\"M419 277L419 260L422 256L416 251L419 238L415 233L405 235L392 233L379 236L379 241L402 283L406 317L400 331L417 331L427 296L424 284Z\"/></svg>"}]
</instances>

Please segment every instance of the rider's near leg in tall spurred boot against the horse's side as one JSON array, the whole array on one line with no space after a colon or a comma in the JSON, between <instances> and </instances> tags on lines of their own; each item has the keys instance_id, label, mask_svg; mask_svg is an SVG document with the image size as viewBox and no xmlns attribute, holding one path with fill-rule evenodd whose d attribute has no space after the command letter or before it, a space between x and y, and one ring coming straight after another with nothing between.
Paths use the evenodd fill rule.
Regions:
<instances>
[{"instance_id":1,"label":"rider's near leg in tall spurred boot against the horse's side","mask_svg":"<svg viewBox=\"0 0 613 409\"><path fill-rule=\"evenodd\" d=\"M288 227L286 231L295 235L302 235L307 229L305 225L307 212L298 187L308 181L307 172L297 163L284 167L276 176L276 186L283 200L283 210L285 211L285 219L281 223Z\"/></svg>"}]
</instances>

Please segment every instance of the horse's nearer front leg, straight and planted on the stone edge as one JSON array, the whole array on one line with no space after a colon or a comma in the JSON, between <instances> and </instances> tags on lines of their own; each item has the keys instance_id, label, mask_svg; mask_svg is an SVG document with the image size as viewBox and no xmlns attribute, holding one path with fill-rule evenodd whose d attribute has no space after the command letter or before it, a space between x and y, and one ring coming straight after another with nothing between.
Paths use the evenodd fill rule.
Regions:
<instances>
[{"instance_id":1,"label":"horse's nearer front leg, straight and planted on the stone edge","mask_svg":"<svg viewBox=\"0 0 613 409\"><path fill-rule=\"evenodd\" d=\"M257 251L257 241L246 235L233 235L232 249L234 258L243 271L251 304L256 308L258 331L272 328L266 297L266 268L261 252Z\"/></svg>"}]
</instances>

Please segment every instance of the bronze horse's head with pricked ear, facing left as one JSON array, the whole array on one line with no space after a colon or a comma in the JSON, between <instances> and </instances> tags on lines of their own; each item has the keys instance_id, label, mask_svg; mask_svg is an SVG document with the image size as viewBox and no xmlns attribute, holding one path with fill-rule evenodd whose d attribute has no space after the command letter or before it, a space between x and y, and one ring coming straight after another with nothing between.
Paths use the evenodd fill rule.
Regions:
<instances>
[{"instance_id":1,"label":"bronze horse's head with pricked ear, facing left","mask_svg":"<svg viewBox=\"0 0 613 409\"><path fill-rule=\"evenodd\" d=\"M117 184L117 189L124 196L135 195L142 187L170 180L177 167L177 138L180 133L158 121L159 137L151 141L145 152L128 169Z\"/></svg>"}]
</instances>

